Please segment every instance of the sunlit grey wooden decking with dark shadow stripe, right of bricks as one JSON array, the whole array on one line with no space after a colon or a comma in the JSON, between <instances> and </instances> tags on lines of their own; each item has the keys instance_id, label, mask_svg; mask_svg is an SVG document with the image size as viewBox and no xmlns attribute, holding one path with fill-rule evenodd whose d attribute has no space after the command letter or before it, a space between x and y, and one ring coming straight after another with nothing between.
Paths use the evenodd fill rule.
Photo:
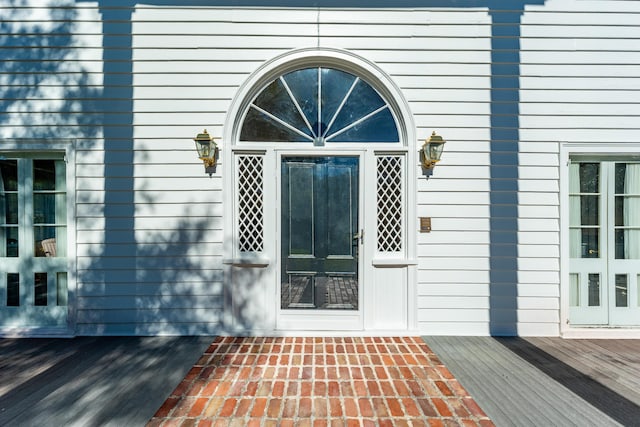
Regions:
<instances>
[{"instance_id":1,"label":"sunlit grey wooden decking with dark shadow stripe, right of bricks","mask_svg":"<svg viewBox=\"0 0 640 427\"><path fill-rule=\"evenodd\" d=\"M425 337L498 426L640 422L640 341ZM619 381L621 375L626 381Z\"/></svg>"}]
</instances>

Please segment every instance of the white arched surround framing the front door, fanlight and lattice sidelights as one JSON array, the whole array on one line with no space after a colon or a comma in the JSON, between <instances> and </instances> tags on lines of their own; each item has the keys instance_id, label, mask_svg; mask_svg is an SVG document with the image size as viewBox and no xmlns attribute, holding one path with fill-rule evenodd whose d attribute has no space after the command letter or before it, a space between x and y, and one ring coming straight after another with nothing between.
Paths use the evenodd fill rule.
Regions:
<instances>
[{"instance_id":1,"label":"white arched surround framing the front door, fanlight and lattice sidelights","mask_svg":"<svg viewBox=\"0 0 640 427\"><path fill-rule=\"evenodd\" d=\"M311 138L301 135L301 142L248 141L241 137L242 126L247 113L255 110L264 114L261 108L253 106L256 97L268 85L287 73L313 67L343 70L357 76L372 85L388 104L398 131L398 141L376 142L335 142L331 135L318 141L317 135ZM286 82L285 82L286 86ZM289 89L289 88L287 88ZM351 88L352 90L353 87ZM289 89L290 90L290 89ZM345 103L345 101L343 101ZM298 106L298 111L302 107ZM253 114L253 112L251 113ZM336 117L334 120L339 121ZM326 123L325 123L326 125ZM315 123L307 120L307 127L314 128ZM287 128L289 129L289 128ZM324 128L322 128L324 129ZM289 132L289 130L287 130ZM415 197L413 173L415 163L414 150L408 145L415 141L412 115L400 90L393 81L377 66L349 52L335 49L302 49L279 56L261 66L239 89L227 116L223 137L224 188L233 189L225 193L225 264L227 289L227 319L232 329L268 333L279 330L280 333L295 331L340 331L348 330L414 330L416 328L415 301ZM338 132L340 133L340 132ZM311 134L311 132L309 132ZM296 136L297 137L297 136ZM277 139L277 138L276 138ZM238 250L238 158L258 156L263 169L262 227L263 245L257 251ZM280 307L281 242L280 233L280 167L283 156L356 156L360 162L359 204L360 227L363 230L363 244L359 259L360 280L363 284L360 295L360 309L345 313L290 313ZM377 183L376 165L379 159L394 157L402 159L398 170L400 189L398 203L402 204L398 219L402 232L402 242L392 251L376 244L376 236L381 227L376 222L377 196L380 184ZM240 190L242 192L242 190ZM387 196L382 196L387 197ZM240 226L242 228L242 226ZM382 248L382 250L380 250ZM376 269L381 271L378 274ZM242 273L240 273L242 272ZM380 282L376 275L385 277ZM246 277L250 280L236 280ZM392 279L397 286L385 286ZM247 283L251 283L249 285ZM243 285L243 283L245 283ZM335 310L338 311L338 310ZM377 313L375 316L373 313ZM249 314L250 313L250 314ZM324 316L322 316L324 314ZM320 315L320 317L318 317ZM346 318L350 319L345 323ZM388 321L385 320L388 317ZM250 318L250 321L247 321ZM334 320L331 320L335 318ZM240 321L239 321L240 319Z\"/></svg>"}]
</instances>

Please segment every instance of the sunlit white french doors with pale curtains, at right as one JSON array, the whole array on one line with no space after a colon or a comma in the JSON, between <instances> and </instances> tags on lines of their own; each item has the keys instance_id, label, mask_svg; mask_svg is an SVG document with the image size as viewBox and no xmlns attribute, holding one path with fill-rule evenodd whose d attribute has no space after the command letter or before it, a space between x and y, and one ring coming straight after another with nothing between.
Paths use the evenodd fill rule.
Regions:
<instances>
[{"instance_id":1,"label":"sunlit white french doors with pale curtains, at right","mask_svg":"<svg viewBox=\"0 0 640 427\"><path fill-rule=\"evenodd\" d=\"M640 325L640 163L569 166L570 322Z\"/></svg>"}]
</instances>

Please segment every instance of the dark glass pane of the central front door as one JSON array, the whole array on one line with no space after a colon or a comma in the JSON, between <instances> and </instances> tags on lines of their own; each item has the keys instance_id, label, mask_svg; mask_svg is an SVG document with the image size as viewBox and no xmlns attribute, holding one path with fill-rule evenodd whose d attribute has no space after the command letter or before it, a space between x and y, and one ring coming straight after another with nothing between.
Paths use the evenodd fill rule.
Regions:
<instances>
[{"instance_id":1,"label":"dark glass pane of the central front door","mask_svg":"<svg viewBox=\"0 0 640 427\"><path fill-rule=\"evenodd\" d=\"M282 159L282 309L358 309L358 167Z\"/></svg>"}]
</instances>

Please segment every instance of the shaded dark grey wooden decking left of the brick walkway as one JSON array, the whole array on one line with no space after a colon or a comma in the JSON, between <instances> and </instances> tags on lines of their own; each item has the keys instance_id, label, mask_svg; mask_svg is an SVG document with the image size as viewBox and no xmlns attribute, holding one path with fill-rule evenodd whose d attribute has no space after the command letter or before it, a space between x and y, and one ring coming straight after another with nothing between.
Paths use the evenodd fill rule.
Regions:
<instances>
[{"instance_id":1,"label":"shaded dark grey wooden decking left of the brick walkway","mask_svg":"<svg viewBox=\"0 0 640 427\"><path fill-rule=\"evenodd\" d=\"M211 340L0 340L0 425L143 426Z\"/></svg>"}]
</instances>

